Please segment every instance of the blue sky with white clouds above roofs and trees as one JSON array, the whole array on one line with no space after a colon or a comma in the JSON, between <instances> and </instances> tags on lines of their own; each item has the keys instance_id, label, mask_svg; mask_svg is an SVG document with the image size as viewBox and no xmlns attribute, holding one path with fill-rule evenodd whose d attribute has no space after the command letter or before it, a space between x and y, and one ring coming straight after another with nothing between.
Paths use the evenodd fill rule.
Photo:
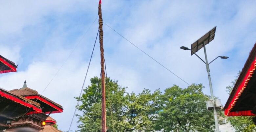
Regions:
<instances>
[{"instance_id":1,"label":"blue sky with white clouds above roofs and trees","mask_svg":"<svg viewBox=\"0 0 256 132\"><path fill-rule=\"evenodd\" d=\"M219 55L229 57L210 64L214 95L224 105L226 86L242 70L256 42L255 7L255 0L102 0L102 16L103 22L189 84L203 83L207 95L204 63L180 47L190 48L217 26L206 51L209 61ZM62 105L63 113L51 114L62 131L69 128L74 97L79 96L90 60L98 30L97 9L98 0L0 1L0 54L19 65L16 73L0 74L0 87L21 88L26 80L29 88ZM188 86L106 25L103 32L107 75L127 87L127 92ZM203 49L197 53L204 59ZM99 75L97 40L85 85Z\"/></svg>"}]
</instances>

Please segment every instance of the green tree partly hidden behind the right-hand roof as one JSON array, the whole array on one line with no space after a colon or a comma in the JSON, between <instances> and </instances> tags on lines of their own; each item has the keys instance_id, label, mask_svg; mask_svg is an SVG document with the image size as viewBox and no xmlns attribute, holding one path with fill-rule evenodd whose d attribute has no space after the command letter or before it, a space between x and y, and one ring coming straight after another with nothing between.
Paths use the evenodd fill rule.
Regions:
<instances>
[{"instance_id":1,"label":"green tree partly hidden behind the right-hand roof","mask_svg":"<svg viewBox=\"0 0 256 132\"><path fill-rule=\"evenodd\" d=\"M226 91L230 95L234 85L236 84L237 78L240 75L241 71L237 73L235 79L231 81L231 85L226 87ZM255 125L252 121L251 116L235 116L235 117L228 117L227 122L231 124L235 128L236 132L254 132L256 131Z\"/></svg>"}]
</instances>

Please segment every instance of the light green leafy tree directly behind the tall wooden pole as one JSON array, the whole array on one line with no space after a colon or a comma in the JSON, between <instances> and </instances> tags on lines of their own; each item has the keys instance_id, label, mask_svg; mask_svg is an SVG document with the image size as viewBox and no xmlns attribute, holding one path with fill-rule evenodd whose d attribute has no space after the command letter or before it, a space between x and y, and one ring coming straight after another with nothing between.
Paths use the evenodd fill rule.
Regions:
<instances>
[{"instance_id":1,"label":"light green leafy tree directly behind the tall wooden pole","mask_svg":"<svg viewBox=\"0 0 256 132\"><path fill-rule=\"evenodd\" d=\"M151 94L148 89L141 93L126 93L124 87L117 81L106 78L106 123L108 132L132 131L135 125L137 130L153 131L156 112L161 106L160 91ZM84 89L81 98L76 97L82 104L77 106L83 111L79 116L78 125L82 132L101 131L101 80L91 79L91 85ZM138 125L139 124L139 125Z\"/></svg>"}]
</instances>

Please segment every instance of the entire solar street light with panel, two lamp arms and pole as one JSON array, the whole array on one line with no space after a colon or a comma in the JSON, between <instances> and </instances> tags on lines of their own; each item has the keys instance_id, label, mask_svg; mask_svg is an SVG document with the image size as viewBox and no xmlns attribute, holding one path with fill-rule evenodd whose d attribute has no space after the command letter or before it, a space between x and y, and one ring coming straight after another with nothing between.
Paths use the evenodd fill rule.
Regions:
<instances>
[{"instance_id":1,"label":"entire solar street light with panel, two lamp arms and pole","mask_svg":"<svg viewBox=\"0 0 256 132\"><path fill-rule=\"evenodd\" d=\"M213 90L212 90L212 81L211 81L211 76L210 76L209 64L212 63L213 61L215 61L219 57L221 59L227 59L228 57L227 56L218 56L215 59L213 59L210 63L208 63L205 45L208 44L210 41L212 41L214 39L215 31L216 31L216 26L213 29L211 29L209 32L207 32L203 37L201 37L197 41L195 41L191 45L191 49L189 49L187 47L184 47L184 46L181 46L180 48L183 49L183 50L190 50L191 51L191 55L195 54L202 61L203 61L203 59L200 58L195 52L197 52L201 48L203 48L203 50L204 50L205 61L203 61L203 63L206 66L206 70L207 70L207 74L208 74L208 80L209 80L209 86L210 86L210 92L211 92L211 99L212 99L212 102L214 104L213 113L214 113L215 127L216 127L216 131L219 132L220 129L219 129L217 112L216 112L216 108L215 108L215 99L214 99Z\"/></svg>"}]
</instances>

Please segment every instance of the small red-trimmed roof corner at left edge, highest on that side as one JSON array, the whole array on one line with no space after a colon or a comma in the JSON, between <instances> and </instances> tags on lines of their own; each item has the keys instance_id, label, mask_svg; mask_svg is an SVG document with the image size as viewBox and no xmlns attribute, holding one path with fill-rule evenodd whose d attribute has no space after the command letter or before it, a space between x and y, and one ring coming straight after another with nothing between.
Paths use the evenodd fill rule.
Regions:
<instances>
[{"instance_id":1,"label":"small red-trimmed roof corner at left edge, highest on that side","mask_svg":"<svg viewBox=\"0 0 256 132\"><path fill-rule=\"evenodd\" d=\"M17 66L14 62L0 55L0 73L16 72Z\"/></svg>"}]
</instances>

